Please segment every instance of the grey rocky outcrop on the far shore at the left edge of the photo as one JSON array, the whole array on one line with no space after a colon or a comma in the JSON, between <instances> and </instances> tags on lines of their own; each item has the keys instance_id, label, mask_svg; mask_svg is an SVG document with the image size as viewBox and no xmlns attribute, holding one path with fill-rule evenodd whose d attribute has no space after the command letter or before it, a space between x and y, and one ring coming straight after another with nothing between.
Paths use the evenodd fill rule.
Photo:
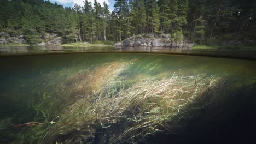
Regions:
<instances>
[{"instance_id":1,"label":"grey rocky outcrop on the far shore at the left edge of the photo","mask_svg":"<svg viewBox=\"0 0 256 144\"><path fill-rule=\"evenodd\" d=\"M24 35L14 35L11 37L10 34L0 32L0 44L26 44L27 41Z\"/></svg>"}]
</instances>

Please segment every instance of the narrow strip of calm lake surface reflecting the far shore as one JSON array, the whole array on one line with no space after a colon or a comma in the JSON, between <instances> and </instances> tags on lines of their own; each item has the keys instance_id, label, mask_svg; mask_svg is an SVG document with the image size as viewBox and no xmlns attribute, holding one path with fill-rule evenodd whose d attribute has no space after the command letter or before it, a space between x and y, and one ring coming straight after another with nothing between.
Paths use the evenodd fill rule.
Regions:
<instances>
[{"instance_id":1,"label":"narrow strip of calm lake surface reflecting the far shore","mask_svg":"<svg viewBox=\"0 0 256 144\"><path fill-rule=\"evenodd\" d=\"M172 53L197 56L217 56L256 59L256 51L239 49L187 49L162 47L61 47L61 46L0 46L0 56L33 55L40 53L86 53L86 52L146 52Z\"/></svg>"}]
</instances>

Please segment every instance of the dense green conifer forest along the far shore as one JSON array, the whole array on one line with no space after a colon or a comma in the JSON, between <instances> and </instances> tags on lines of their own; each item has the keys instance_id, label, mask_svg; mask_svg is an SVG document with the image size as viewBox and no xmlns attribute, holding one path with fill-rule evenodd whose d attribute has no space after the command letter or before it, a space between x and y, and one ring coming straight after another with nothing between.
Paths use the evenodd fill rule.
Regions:
<instances>
[{"instance_id":1,"label":"dense green conifer forest along the far shore","mask_svg":"<svg viewBox=\"0 0 256 144\"><path fill-rule=\"evenodd\" d=\"M43 0L0 0L0 31L23 33L28 43L38 43L45 32L66 43L118 41L141 33L171 34L174 40L186 35L207 43L225 34L255 39L255 11L254 0L115 0L112 12L96 0L73 8Z\"/></svg>"}]
</instances>

